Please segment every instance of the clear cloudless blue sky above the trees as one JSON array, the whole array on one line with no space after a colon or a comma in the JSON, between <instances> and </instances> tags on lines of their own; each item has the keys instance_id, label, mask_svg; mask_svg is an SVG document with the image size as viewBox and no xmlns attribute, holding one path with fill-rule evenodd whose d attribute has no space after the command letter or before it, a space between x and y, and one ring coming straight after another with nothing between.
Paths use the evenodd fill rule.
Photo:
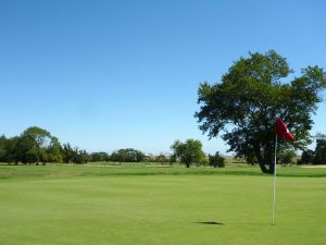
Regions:
<instances>
[{"instance_id":1,"label":"clear cloudless blue sky above the trees","mask_svg":"<svg viewBox=\"0 0 326 245\"><path fill-rule=\"evenodd\" d=\"M0 1L0 134L43 127L89 151L166 152L197 138L200 82L275 49L326 68L325 1ZM326 133L326 103L314 117Z\"/></svg>"}]
</instances>

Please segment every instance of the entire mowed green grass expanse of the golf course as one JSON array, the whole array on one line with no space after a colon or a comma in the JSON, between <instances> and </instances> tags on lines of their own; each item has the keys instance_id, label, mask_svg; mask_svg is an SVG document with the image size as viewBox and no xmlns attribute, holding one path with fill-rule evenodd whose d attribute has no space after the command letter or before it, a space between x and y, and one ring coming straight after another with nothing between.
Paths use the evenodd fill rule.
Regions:
<instances>
[{"instance_id":1,"label":"entire mowed green grass expanse of the golf course","mask_svg":"<svg viewBox=\"0 0 326 245\"><path fill-rule=\"evenodd\" d=\"M0 167L2 245L326 244L324 169Z\"/></svg>"}]
</instances>

